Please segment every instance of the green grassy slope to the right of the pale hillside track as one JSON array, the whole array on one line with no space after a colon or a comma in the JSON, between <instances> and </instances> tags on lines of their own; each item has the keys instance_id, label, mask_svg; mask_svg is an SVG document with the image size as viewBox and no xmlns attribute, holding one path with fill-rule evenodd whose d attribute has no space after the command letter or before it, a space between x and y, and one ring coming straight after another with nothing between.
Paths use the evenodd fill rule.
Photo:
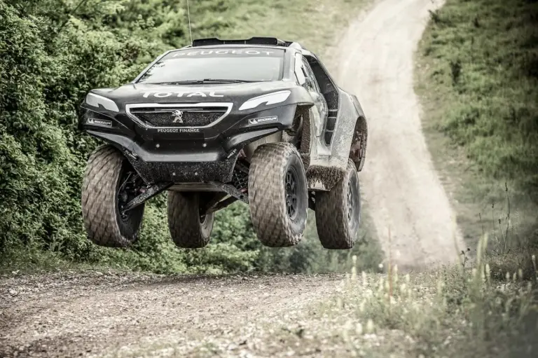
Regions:
<instances>
[{"instance_id":1,"label":"green grassy slope to the right of the pale hillside track","mask_svg":"<svg viewBox=\"0 0 538 358\"><path fill-rule=\"evenodd\" d=\"M538 4L448 0L416 53L434 164L469 247L536 242Z\"/></svg>"}]
</instances>

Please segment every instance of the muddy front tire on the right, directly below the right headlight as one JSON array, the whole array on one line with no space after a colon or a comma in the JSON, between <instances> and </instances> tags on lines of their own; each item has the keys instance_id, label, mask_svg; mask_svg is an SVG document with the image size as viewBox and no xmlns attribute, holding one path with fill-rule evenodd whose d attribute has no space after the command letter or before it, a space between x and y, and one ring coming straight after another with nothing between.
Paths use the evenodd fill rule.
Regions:
<instances>
[{"instance_id":1,"label":"muddy front tire on the right, directly below the right headlight","mask_svg":"<svg viewBox=\"0 0 538 358\"><path fill-rule=\"evenodd\" d=\"M297 245L303 237L308 186L303 161L288 143L258 146L249 170L250 217L268 247Z\"/></svg>"}]
</instances>

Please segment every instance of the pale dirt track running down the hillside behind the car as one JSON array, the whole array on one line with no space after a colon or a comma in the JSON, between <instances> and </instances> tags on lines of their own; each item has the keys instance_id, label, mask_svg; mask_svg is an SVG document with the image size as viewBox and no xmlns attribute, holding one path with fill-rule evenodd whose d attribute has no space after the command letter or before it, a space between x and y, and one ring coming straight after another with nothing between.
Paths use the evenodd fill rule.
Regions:
<instances>
[{"instance_id":1,"label":"pale dirt track running down the hillside behind the car","mask_svg":"<svg viewBox=\"0 0 538 358\"><path fill-rule=\"evenodd\" d=\"M340 43L338 79L368 118L364 200L385 253L401 268L457 260L462 235L434 170L413 91L413 53L440 0L386 0ZM391 244L387 240L391 232ZM459 231L459 230L457 230Z\"/></svg>"}]
</instances>

